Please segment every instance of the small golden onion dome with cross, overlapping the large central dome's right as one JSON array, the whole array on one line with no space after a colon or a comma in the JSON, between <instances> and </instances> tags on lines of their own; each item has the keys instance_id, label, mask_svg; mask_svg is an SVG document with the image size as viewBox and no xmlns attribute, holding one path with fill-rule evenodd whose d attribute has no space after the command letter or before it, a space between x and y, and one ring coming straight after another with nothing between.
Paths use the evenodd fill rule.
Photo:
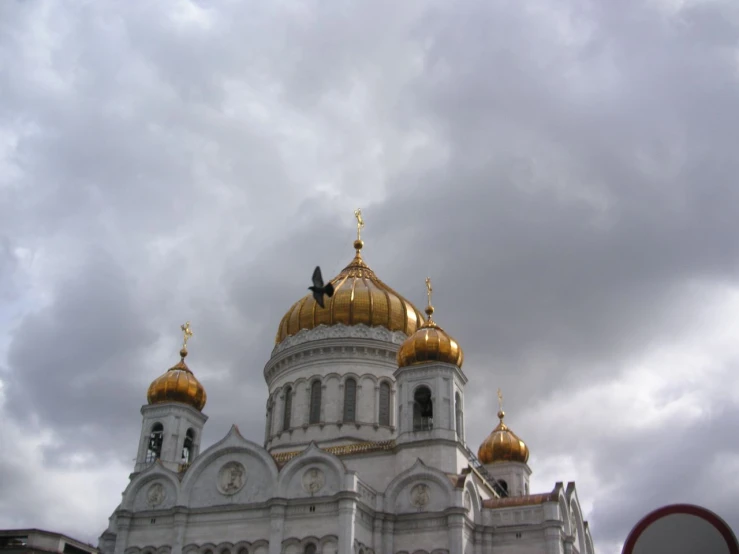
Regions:
<instances>
[{"instance_id":1,"label":"small golden onion dome with cross, overlapping the large central dome's right","mask_svg":"<svg viewBox=\"0 0 739 554\"><path fill-rule=\"evenodd\" d=\"M439 327L432 318L434 307L431 305L431 279L426 279L426 287L429 295L429 304L426 307L428 319L400 346L398 367L426 362L444 362L462 367L464 353L459 343Z\"/></svg>"}]
</instances>

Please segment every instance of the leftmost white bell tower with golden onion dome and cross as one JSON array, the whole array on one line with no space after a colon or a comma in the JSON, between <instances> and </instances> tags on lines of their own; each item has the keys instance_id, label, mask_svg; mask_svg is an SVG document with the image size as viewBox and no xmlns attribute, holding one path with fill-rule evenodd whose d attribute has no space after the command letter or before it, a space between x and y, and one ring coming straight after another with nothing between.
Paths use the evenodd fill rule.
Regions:
<instances>
[{"instance_id":1,"label":"leftmost white bell tower with golden onion dome and cross","mask_svg":"<svg viewBox=\"0 0 739 554\"><path fill-rule=\"evenodd\" d=\"M142 406L141 439L134 472L159 462L172 471L183 471L200 451L200 438L208 416L202 413L206 394L187 367L190 322L181 326L184 341L180 361L157 377Z\"/></svg>"}]
</instances>

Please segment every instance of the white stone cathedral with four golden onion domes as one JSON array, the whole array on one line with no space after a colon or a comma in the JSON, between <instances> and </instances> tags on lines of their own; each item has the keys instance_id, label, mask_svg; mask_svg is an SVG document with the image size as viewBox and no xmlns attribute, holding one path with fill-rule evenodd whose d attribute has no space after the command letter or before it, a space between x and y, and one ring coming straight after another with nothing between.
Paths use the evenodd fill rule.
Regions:
<instances>
[{"instance_id":1,"label":"white stone cathedral with four golden onion domes","mask_svg":"<svg viewBox=\"0 0 739 554\"><path fill-rule=\"evenodd\" d=\"M365 263L355 215L333 295L309 293L279 322L262 444L234 425L200 451L207 397L182 326L103 554L594 553L574 483L529 490L529 449L502 406L470 448L464 356L434 320L430 280L424 315Z\"/></svg>"}]
</instances>

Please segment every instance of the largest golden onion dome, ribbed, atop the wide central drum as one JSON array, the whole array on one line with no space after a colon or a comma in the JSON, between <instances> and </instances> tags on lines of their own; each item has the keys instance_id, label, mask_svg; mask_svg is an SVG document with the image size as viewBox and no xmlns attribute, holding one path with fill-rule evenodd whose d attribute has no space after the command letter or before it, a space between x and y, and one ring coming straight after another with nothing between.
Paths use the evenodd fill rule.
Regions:
<instances>
[{"instance_id":1,"label":"largest golden onion dome, ribbed, atop the wide central drum","mask_svg":"<svg viewBox=\"0 0 739 554\"><path fill-rule=\"evenodd\" d=\"M333 296L321 308L312 293L306 294L280 321L275 344L303 329L319 325L368 325L385 327L411 335L423 323L423 315L413 304L380 281L362 259L363 241L356 240L357 253L341 273L331 279Z\"/></svg>"}]
</instances>

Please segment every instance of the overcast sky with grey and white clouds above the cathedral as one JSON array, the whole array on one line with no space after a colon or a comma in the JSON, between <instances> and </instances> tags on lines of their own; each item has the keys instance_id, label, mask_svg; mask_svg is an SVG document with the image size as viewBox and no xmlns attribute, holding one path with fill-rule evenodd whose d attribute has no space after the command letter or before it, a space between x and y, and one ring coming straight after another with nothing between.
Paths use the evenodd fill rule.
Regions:
<instances>
[{"instance_id":1,"label":"overcast sky with grey and white clouds above the cathedral","mask_svg":"<svg viewBox=\"0 0 739 554\"><path fill-rule=\"evenodd\" d=\"M500 387L601 554L671 502L739 528L738 46L734 0L3 0L0 528L97 543L186 320L204 446L261 442L356 207L473 449Z\"/></svg>"}]
</instances>

